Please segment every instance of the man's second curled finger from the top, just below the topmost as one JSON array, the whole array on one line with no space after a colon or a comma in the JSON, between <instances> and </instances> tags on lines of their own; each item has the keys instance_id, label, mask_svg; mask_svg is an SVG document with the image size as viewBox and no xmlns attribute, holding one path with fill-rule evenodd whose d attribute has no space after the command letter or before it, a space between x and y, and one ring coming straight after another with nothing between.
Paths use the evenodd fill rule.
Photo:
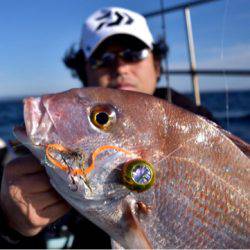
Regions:
<instances>
[{"instance_id":1,"label":"man's second curled finger from the top, just below the topmost","mask_svg":"<svg viewBox=\"0 0 250 250\"><path fill-rule=\"evenodd\" d=\"M44 172L23 175L14 180L11 184L18 186L26 195L46 192L52 189L49 177Z\"/></svg>"}]
</instances>

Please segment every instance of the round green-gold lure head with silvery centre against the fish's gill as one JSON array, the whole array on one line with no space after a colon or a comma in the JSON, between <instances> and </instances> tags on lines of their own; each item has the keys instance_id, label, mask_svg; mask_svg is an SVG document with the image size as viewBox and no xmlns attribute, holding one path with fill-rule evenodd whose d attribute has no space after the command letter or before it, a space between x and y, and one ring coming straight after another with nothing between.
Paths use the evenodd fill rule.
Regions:
<instances>
[{"instance_id":1,"label":"round green-gold lure head with silvery centre against the fish's gill","mask_svg":"<svg viewBox=\"0 0 250 250\"><path fill-rule=\"evenodd\" d=\"M154 184L154 168L142 159L129 161L122 169L122 179L127 188L143 192Z\"/></svg>"}]
</instances>

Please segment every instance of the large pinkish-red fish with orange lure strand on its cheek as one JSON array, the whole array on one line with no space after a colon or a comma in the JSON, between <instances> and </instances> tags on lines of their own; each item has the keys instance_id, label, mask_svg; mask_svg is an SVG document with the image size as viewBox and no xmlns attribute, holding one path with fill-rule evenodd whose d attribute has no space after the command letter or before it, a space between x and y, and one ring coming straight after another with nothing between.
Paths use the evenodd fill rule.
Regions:
<instances>
[{"instance_id":1,"label":"large pinkish-red fish with orange lure strand on its cheek","mask_svg":"<svg viewBox=\"0 0 250 250\"><path fill-rule=\"evenodd\" d=\"M250 248L250 146L156 97L107 88L24 100L16 138L121 248Z\"/></svg>"}]
</instances>

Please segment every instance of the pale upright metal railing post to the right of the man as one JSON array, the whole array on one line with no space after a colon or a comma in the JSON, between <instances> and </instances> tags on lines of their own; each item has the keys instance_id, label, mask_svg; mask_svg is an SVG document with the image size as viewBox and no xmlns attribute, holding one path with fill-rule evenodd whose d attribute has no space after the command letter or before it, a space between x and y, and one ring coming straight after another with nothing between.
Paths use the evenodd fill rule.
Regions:
<instances>
[{"instance_id":1,"label":"pale upright metal railing post to the right of the man","mask_svg":"<svg viewBox=\"0 0 250 250\"><path fill-rule=\"evenodd\" d=\"M190 70L192 72L191 77L192 77L192 82L193 82L194 98L195 98L196 105L200 106L201 98L200 98L200 90L199 90L199 79L198 79L198 75L195 73L195 70L196 70L195 48L194 48L194 39L193 39L190 10L188 7L184 9L184 14L185 14L185 23L186 23L187 40L188 40L189 64L190 64Z\"/></svg>"}]
</instances>

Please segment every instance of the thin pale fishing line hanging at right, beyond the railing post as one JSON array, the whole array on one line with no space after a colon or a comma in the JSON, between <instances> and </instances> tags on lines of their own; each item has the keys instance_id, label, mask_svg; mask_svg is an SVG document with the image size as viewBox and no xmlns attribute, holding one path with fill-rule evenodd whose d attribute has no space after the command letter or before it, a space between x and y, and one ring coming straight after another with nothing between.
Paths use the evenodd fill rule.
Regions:
<instances>
[{"instance_id":1,"label":"thin pale fishing line hanging at right, beyond the railing post","mask_svg":"<svg viewBox=\"0 0 250 250\"><path fill-rule=\"evenodd\" d=\"M224 61L224 37L225 37L225 24L226 24L227 12L228 12L228 5L229 5L229 0L226 0L224 13L223 13L223 19L222 19L221 55L220 55L222 64ZM224 79L224 86L225 86L225 91L226 91L226 129L229 130L229 87L228 87L228 79L226 77L225 67L223 68L224 68L223 79Z\"/></svg>"}]
</instances>

